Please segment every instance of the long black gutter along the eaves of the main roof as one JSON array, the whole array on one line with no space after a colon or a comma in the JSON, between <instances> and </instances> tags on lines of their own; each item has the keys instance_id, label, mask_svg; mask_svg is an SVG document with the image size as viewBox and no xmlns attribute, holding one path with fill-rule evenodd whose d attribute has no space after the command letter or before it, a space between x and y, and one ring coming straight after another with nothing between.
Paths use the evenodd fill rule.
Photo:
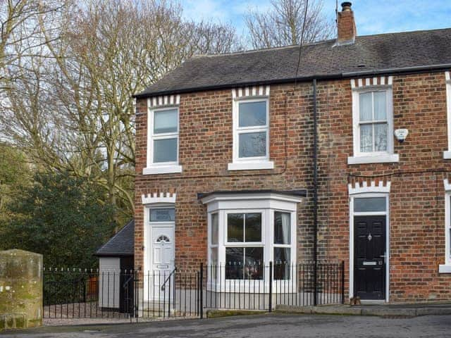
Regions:
<instances>
[{"instance_id":1,"label":"long black gutter along the eaves of the main roof","mask_svg":"<svg viewBox=\"0 0 451 338\"><path fill-rule=\"evenodd\" d=\"M159 92L150 92L145 93L141 92L138 94L132 95L135 99L146 99L152 96L161 96L161 95L173 95L173 94L187 94L194 92L205 92L209 90L218 90L218 89L230 89L235 87L249 87L249 86L259 86L265 84L284 84L291 82L310 82L313 80L341 80L347 79L351 77L357 76L366 76L366 75L393 75L393 74L407 74L407 73L426 73L431 70L449 70L451 68L451 63L440 63L437 65L418 65L412 67L400 67L400 68L381 68L376 70L362 70L362 71L354 71L354 72L345 72L345 73L333 73L333 74L317 74L317 75L309 75L306 77L290 77L288 79L278 79L278 80L264 80L264 81L249 81L249 82L239 82L239 83L229 83L229 84L216 84L211 86L203 86L196 88L186 88L186 89L170 89L170 90L162 90Z\"/></svg>"}]
</instances>

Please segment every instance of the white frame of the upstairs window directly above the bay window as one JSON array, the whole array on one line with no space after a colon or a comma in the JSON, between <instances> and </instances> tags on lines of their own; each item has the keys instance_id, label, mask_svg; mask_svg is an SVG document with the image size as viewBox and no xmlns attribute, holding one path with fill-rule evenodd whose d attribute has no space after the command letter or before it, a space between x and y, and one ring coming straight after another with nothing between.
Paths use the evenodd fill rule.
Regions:
<instances>
[{"instance_id":1,"label":"white frame of the upstairs window directly above the bay window","mask_svg":"<svg viewBox=\"0 0 451 338\"><path fill-rule=\"evenodd\" d=\"M266 103L266 125L240 127L240 104L250 102ZM269 161L269 99L261 97L257 99L237 98L233 100L233 163L228 163L228 170L258 170L273 169L273 161ZM266 155L240 158L240 134L249 132L266 132Z\"/></svg>"}]
</instances>

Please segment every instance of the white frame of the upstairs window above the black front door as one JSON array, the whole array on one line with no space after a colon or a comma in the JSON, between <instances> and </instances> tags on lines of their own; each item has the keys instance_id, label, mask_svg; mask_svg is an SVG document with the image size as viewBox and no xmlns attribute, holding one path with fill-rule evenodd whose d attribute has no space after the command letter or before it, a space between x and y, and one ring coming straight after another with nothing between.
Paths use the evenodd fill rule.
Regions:
<instances>
[{"instance_id":1,"label":"white frame of the upstairs window above the black front door","mask_svg":"<svg viewBox=\"0 0 451 338\"><path fill-rule=\"evenodd\" d=\"M360 151L360 94L372 92L385 92L386 94L386 112L388 123L387 131L387 151ZM378 121L371 121L377 123ZM382 121L381 121L382 122ZM385 120L383 121L385 123ZM354 154L347 158L347 164L362 164L362 163L393 163L399 162L400 158L394 154L394 139L393 139L393 89L390 84L380 84L373 86L355 87L352 88L352 134Z\"/></svg>"}]
</instances>

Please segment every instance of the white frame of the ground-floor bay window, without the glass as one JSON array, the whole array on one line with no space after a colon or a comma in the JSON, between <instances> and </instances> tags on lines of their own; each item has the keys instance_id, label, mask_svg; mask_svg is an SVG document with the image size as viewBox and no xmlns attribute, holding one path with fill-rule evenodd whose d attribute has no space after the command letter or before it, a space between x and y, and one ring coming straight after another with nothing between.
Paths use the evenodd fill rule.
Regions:
<instances>
[{"instance_id":1,"label":"white frame of the ground-floor bay window, without the glass","mask_svg":"<svg viewBox=\"0 0 451 338\"><path fill-rule=\"evenodd\" d=\"M296 264L297 259L297 203L302 201L302 198L297 196L280 196L273 193L264 194L230 194L218 196L207 196L202 199L202 202L207 205L207 221L208 221L208 236L209 243L208 265L211 266L211 248L218 249L218 271L216 276L221 278L209 279L207 287L209 290L215 292L234 292L240 288L242 292L268 292L269 290L269 273L268 265L270 261L274 260L274 247L289 247L290 248L290 265ZM283 213L290 213L290 244L274 244L274 213L280 211ZM218 213L218 245L211 245L211 215ZM261 213L261 242L227 242L227 215L229 213ZM226 280L225 270L221 270L226 264L226 247L263 247L264 260L264 280ZM287 280L277 280L273 283L276 288L275 292L281 292L284 287L290 287L296 283L295 278L292 279L292 271L290 271L290 278ZM231 281L231 282L229 282Z\"/></svg>"}]
</instances>

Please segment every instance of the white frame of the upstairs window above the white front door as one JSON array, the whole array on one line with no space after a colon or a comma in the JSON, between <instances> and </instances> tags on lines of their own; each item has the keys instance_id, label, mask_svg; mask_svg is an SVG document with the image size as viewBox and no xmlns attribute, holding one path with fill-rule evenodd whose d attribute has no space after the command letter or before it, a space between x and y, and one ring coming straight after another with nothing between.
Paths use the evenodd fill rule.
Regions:
<instances>
[{"instance_id":1,"label":"white frame of the upstairs window above the white front door","mask_svg":"<svg viewBox=\"0 0 451 338\"><path fill-rule=\"evenodd\" d=\"M159 108L150 108L150 101L148 102L148 106L149 111L147 114L147 168L144 168L142 170L142 173L143 175L181 173L182 166L178 164L179 144L180 144L180 135L179 135L180 112L178 106L164 106ZM177 131L154 134L155 113L158 113L160 111L172 111L174 109L177 110ZM154 163L154 141L159 139L174 139L174 138L177 138L177 161Z\"/></svg>"}]
</instances>

